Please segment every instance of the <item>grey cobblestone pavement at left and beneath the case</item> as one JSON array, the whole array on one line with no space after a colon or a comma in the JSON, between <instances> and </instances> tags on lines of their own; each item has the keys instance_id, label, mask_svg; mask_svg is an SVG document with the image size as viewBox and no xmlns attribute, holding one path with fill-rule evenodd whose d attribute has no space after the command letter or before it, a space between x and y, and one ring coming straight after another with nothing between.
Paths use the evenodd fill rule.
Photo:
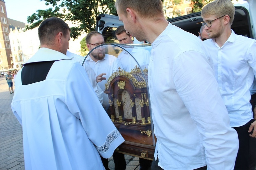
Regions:
<instances>
[{"instance_id":1,"label":"grey cobblestone pavement at left and beneath the case","mask_svg":"<svg viewBox=\"0 0 256 170\"><path fill-rule=\"evenodd\" d=\"M22 126L12 113L12 97L5 77L0 77L0 170L25 170ZM126 170L139 169L138 157L125 155L125 160ZM109 158L108 166L114 170L113 157Z\"/></svg>"}]
</instances>

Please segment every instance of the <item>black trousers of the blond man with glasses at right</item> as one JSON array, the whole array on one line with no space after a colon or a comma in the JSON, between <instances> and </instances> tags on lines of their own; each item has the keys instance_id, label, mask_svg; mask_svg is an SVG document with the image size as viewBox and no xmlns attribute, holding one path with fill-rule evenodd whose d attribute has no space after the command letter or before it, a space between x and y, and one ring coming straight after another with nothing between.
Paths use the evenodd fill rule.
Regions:
<instances>
[{"instance_id":1,"label":"black trousers of the blond man with glasses at right","mask_svg":"<svg viewBox=\"0 0 256 170\"><path fill-rule=\"evenodd\" d=\"M249 170L249 141L251 137L249 136L250 133L248 133L248 129L252 122L254 122L254 119L243 126L234 127L237 131L239 140L239 148L234 170Z\"/></svg>"}]
</instances>

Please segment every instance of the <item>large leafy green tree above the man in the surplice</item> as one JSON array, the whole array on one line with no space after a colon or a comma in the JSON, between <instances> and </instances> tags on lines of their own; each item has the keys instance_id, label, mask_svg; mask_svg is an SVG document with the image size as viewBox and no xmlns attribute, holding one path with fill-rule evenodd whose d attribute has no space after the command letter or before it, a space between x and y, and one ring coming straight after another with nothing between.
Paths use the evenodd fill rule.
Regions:
<instances>
[{"instance_id":1,"label":"large leafy green tree above the man in the surplice","mask_svg":"<svg viewBox=\"0 0 256 170\"><path fill-rule=\"evenodd\" d=\"M37 10L37 13L27 17L30 25L26 30L33 29L40 25L42 20L49 17L60 17L64 20L77 24L71 27L71 37L76 39L83 32L95 30L95 18L99 14L117 15L114 0L40 0L46 1L46 5L52 5L53 8L46 10ZM69 11L69 12L67 12Z\"/></svg>"}]
</instances>

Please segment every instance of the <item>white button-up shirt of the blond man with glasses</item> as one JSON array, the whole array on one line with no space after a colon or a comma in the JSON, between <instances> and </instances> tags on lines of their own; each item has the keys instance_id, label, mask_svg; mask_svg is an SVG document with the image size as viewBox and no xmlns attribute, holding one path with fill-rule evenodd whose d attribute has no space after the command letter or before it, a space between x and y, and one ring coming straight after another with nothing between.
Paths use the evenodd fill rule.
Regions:
<instances>
[{"instance_id":1,"label":"white button-up shirt of the blond man with glasses","mask_svg":"<svg viewBox=\"0 0 256 170\"><path fill-rule=\"evenodd\" d=\"M203 42L214 62L215 77L230 116L230 125L245 125L253 114L250 87L256 75L256 40L232 33L222 47L214 39Z\"/></svg>"}]
</instances>

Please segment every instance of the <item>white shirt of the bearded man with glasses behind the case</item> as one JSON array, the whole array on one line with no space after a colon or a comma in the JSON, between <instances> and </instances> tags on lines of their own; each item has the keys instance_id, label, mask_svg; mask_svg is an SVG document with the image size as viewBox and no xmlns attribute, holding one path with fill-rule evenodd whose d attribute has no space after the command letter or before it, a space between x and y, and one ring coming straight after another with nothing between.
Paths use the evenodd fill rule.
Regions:
<instances>
[{"instance_id":1,"label":"white shirt of the bearded man with glasses behind the case","mask_svg":"<svg viewBox=\"0 0 256 170\"><path fill-rule=\"evenodd\" d=\"M101 82L98 82L98 85L100 86L101 90L104 92L105 90L105 84L107 83L108 78L112 75L112 73L116 72L118 70L118 67L122 69L122 65L120 61L112 55L105 54L105 57L102 60L98 60L97 62L93 61L90 55L86 58L86 61L88 62L89 66L94 70L96 75L99 75L101 73L106 73L105 76L107 79L102 80ZM109 107L108 103L108 95L103 94L103 104L102 106L104 108Z\"/></svg>"}]
</instances>

